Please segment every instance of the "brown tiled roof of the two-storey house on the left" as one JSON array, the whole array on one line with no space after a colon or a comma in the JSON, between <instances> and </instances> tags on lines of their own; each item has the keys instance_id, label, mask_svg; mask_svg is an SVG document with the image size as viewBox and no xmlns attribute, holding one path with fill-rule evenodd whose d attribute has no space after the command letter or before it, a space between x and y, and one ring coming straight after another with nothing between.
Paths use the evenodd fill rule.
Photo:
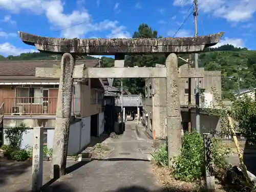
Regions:
<instances>
[{"instance_id":1,"label":"brown tiled roof of the two-storey house on the left","mask_svg":"<svg viewBox=\"0 0 256 192\"><path fill-rule=\"evenodd\" d=\"M76 60L76 65L96 67L98 60ZM35 76L35 68L60 66L60 60L0 61L0 76Z\"/></svg>"}]
</instances>

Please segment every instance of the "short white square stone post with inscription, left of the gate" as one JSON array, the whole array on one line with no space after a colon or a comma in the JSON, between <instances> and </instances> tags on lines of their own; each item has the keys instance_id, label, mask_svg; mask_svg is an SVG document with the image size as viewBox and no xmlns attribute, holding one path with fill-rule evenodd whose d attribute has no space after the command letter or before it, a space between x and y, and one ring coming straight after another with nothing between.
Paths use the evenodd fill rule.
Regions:
<instances>
[{"instance_id":1,"label":"short white square stone post with inscription, left of the gate","mask_svg":"<svg viewBox=\"0 0 256 192\"><path fill-rule=\"evenodd\" d=\"M41 126L33 129L32 191L39 191L42 187L43 129Z\"/></svg>"}]
</instances>

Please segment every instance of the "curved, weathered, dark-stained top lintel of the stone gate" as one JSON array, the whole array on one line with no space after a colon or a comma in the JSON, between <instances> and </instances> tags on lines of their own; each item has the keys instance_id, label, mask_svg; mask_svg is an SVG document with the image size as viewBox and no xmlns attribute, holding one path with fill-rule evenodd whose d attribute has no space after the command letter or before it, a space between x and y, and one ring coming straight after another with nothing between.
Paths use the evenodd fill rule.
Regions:
<instances>
[{"instance_id":1,"label":"curved, weathered, dark-stained top lintel of the stone gate","mask_svg":"<svg viewBox=\"0 0 256 192\"><path fill-rule=\"evenodd\" d=\"M116 54L147 54L147 53L193 53L214 46L224 32L178 38L89 38L66 39L51 38L18 32L19 37L27 45L35 46L37 50L51 53L74 53L88 55Z\"/></svg>"}]
</instances>

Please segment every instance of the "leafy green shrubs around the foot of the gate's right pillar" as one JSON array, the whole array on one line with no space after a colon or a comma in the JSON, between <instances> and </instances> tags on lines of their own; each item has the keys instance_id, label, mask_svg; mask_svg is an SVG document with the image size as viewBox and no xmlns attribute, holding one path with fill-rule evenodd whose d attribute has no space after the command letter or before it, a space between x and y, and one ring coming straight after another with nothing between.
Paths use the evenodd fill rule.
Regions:
<instances>
[{"instance_id":1,"label":"leafy green shrubs around the foot of the gate's right pillar","mask_svg":"<svg viewBox=\"0 0 256 192\"><path fill-rule=\"evenodd\" d=\"M228 165L226 158L231 150L222 147L217 139L214 142L215 166L224 168ZM168 165L167 145L163 145L153 154L153 161L160 166ZM203 137L198 133L185 133L182 138L181 154L173 158L175 166L172 175L177 180L192 182L200 179L204 174L204 146Z\"/></svg>"}]
</instances>

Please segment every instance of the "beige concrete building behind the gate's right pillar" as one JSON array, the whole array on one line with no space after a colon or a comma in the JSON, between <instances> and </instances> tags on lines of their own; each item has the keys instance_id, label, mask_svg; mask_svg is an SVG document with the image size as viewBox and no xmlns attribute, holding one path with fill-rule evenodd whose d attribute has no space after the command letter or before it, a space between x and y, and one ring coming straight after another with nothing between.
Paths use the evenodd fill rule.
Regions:
<instances>
[{"instance_id":1,"label":"beige concrete building behind the gate's right pillar","mask_svg":"<svg viewBox=\"0 0 256 192\"><path fill-rule=\"evenodd\" d=\"M187 67L187 66L182 66ZM205 77L199 78L200 88L204 92L212 92L212 87L215 87L218 94L221 95L221 72L220 71L205 71ZM165 78L147 78L145 80L146 85L146 98L145 98L145 110L148 114L147 129L148 135L154 139L165 139L166 132L166 80ZM179 79L180 87L180 103L188 104L188 78ZM191 80L191 104L195 105L195 79ZM154 95L151 94L151 90L154 90ZM215 103L215 100L213 100ZM185 114L182 115L182 122L187 122ZM195 116L195 115L194 115ZM191 123L195 125L196 116L191 116ZM193 123L194 121L194 123ZM214 129L213 126L220 126L218 123L218 117L209 117L203 115L201 117L202 126L205 124L207 129ZM211 125L209 126L210 121ZM204 123L205 122L205 123ZM216 123L217 122L217 123ZM215 127L215 129L219 129Z\"/></svg>"}]
</instances>

